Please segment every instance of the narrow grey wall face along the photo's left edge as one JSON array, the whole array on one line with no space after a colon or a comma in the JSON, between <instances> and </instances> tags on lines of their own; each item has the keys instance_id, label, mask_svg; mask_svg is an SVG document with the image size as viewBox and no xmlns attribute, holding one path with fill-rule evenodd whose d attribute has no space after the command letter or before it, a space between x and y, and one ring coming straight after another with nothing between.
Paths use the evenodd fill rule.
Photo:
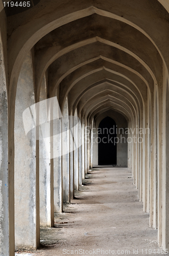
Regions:
<instances>
[{"instance_id":1,"label":"narrow grey wall face along the photo's left edge","mask_svg":"<svg viewBox=\"0 0 169 256\"><path fill-rule=\"evenodd\" d=\"M4 21L4 29L6 29L6 22ZM9 212L9 186L8 186L8 102L7 102L7 74L5 65L4 42L6 37L2 40L4 31L1 28L0 33L0 255L9 255L9 215L13 215L13 211ZM11 217L12 217L11 215ZM11 218L12 220L13 218ZM14 241L13 242L14 245ZM11 243L11 248L13 248Z\"/></svg>"}]
</instances>

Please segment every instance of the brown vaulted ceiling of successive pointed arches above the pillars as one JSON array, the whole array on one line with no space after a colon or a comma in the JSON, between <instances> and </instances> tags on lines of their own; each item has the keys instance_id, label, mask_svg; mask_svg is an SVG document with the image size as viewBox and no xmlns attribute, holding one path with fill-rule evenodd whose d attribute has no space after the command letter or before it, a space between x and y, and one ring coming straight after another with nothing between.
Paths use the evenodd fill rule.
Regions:
<instances>
[{"instance_id":1,"label":"brown vaulted ceiling of successive pointed arches above the pillars","mask_svg":"<svg viewBox=\"0 0 169 256\"><path fill-rule=\"evenodd\" d=\"M36 100L47 75L48 97L68 97L81 120L116 110L144 115L169 65L169 15L157 0L41 0L8 17L9 90L24 57L34 52ZM164 7L162 6L164 5Z\"/></svg>"}]
</instances>

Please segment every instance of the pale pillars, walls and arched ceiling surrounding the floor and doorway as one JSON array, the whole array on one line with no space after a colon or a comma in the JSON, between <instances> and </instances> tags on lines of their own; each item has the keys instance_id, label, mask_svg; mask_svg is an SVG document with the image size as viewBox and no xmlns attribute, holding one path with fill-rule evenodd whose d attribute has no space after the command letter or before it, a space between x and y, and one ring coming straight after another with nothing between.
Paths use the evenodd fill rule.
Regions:
<instances>
[{"instance_id":1,"label":"pale pillars, walls and arched ceiling surrounding the floor and doorway","mask_svg":"<svg viewBox=\"0 0 169 256\"><path fill-rule=\"evenodd\" d=\"M100 163L104 118L122 129L116 165L169 248L169 0L13 3L0 3L0 255L40 247L40 225Z\"/></svg>"}]
</instances>

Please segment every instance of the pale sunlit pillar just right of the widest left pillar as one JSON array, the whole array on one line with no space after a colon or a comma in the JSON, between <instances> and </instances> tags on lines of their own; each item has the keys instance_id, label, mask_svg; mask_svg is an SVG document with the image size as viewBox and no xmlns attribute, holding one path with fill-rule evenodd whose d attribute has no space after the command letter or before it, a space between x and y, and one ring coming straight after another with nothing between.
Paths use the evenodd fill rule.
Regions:
<instances>
[{"instance_id":1,"label":"pale sunlit pillar just right of the widest left pillar","mask_svg":"<svg viewBox=\"0 0 169 256\"><path fill-rule=\"evenodd\" d=\"M53 212L53 167L51 165L51 122L52 112L47 109L46 77L44 77L39 106L39 116L43 123L39 126L39 194L40 194L40 225L54 226Z\"/></svg>"}]
</instances>

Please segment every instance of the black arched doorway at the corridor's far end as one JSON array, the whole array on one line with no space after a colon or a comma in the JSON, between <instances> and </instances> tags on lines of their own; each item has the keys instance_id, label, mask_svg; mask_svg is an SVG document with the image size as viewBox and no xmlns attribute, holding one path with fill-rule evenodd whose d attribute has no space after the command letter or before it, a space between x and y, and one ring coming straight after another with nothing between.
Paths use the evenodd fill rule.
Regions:
<instances>
[{"instance_id":1,"label":"black arched doorway at the corridor's far end","mask_svg":"<svg viewBox=\"0 0 169 256\"><path fill-rule=\"evenodd\" d=\"M116 137L116 122L107 116L100 122L98 129L99 165L117 164L117 144L115 143Z\"/></svg>"}]
</instances>

